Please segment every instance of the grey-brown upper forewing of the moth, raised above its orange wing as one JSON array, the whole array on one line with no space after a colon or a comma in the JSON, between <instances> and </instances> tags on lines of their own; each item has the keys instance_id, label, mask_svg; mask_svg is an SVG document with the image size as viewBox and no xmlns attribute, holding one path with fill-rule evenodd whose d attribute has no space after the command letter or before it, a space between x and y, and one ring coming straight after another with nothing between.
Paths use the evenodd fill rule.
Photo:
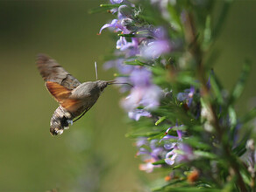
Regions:
<instances>
[{"instance_id":1,"label":"grey-brown upper forewing of the moth, raised above its orange wing","mask_svg":"<svg viewBox=\"0 0 256 192\"><path fill-rule=\"evenodd\" d=\"M39 72L45 81L58 83L69 90L73 90L81 84L53 58L50 58L45 54L39 54L37 56L37 65Z\"/></svg>"}]
</instances>

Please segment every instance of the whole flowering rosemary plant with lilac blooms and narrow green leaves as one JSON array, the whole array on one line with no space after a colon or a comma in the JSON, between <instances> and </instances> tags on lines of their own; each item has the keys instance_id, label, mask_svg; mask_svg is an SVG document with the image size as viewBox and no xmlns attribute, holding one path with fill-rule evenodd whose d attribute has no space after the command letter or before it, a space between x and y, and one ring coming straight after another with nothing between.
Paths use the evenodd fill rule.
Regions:
<instances>
[{"instance_id":1,"label":"whole flowering rosemary plant with lilac blooms and narrow green leaves","mask_svg":"<svg viewBox=\"0 0 256 192\"><path fill-rule=\"evenodd\" d=\"M238 118L234 109L248 65L230 95L203 65L217 37L211 34L219 31L209 24L207 11L214 4L110 0L104 5L115 18L99 34L106 29L117 34L114 54L104 67L117 70L117 82L132 85L120 86L127 94L121 106L133 126L127 135L136 140L137 156L143 161L140 170L166 168L169 184L160 189L190 188L191 183L196 189L224 189L227 181L240 191L253 187L246 181L255 178L255 153L253 149L248 173L242 176L248 136L238 138L238 127L245 127L256 113ZM244 179L249 173L251 177Z\"/></svg>"}]
</instances>

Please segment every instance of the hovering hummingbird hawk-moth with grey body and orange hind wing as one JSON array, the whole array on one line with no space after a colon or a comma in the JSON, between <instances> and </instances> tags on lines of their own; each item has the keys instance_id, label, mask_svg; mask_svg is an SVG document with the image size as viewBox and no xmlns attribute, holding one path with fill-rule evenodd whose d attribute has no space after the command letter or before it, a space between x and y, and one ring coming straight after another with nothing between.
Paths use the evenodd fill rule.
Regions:
<instances>
[{"instance_id":1,"label":"hovering hummingbird hawk-moth with grey body and orange hind wing","mask_svg":"<svg viewBox=\"0 0 256 192\"><path fill-rule=\"evenodd\" d=\"M115 84L114 81L105 80L80 83L53 58L44 54L38 55L37 65L47 90L60 104L50 121L52 135L62 134L64 129L69 128L69 124L73 124L76 117L80 119L89 111L104 88Z\"/></svg>"}]
</instances>

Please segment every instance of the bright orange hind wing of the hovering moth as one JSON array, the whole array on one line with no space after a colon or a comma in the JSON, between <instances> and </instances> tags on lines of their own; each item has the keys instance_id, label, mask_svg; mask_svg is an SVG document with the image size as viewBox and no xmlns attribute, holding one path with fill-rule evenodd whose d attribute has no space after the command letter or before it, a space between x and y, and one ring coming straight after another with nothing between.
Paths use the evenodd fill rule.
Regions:
<instances>
[{"instance_id":1,"label":"bright orange hind wing of the hovering moth","mask_svg":"<svg viewBox=\"0 0 256 192\"><path fill-rule=\"evenodd\" d=\"M52 81L46 81L46 87L53 97L60 103L60 106L68 110L70 113L75 113L77 108L82 106L82 99L70 98L71 90L65 86Z\"/></svg>"}]
</instances>

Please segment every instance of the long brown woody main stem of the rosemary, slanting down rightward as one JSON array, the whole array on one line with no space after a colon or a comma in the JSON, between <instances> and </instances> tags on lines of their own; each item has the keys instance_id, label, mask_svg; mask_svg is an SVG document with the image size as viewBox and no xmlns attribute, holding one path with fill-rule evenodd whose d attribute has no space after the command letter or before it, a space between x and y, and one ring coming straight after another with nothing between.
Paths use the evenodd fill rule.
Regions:
<instances>
[{"instance_id":1,"label":"long brown woody main stem of the rosemary, slanting down rightward","mask_svg":"<svg viewBox=\"0 0 256 192\"><path fill-rule=\"evenodd\" d=\"M201 82L201 94L203 99L207 101L207 105L209 106L209 113L211 116L211 125L216 129L217 138L221 142L223 150L224 150L224 158L226 161L229 162L231 168L234 170L235 174L238 176L238 188L241 191L247 191L245 187L245 182L242 178L242 175L239 171L239 163L235 156L231 153L231 146L229 142L224 138L224 129L220 126L217 112L215 107L210 103L210 90L207 86L207 80L205 78L205 70L203 67L203 52L201 46L198 44L196 39L197 32L196 32L196 25L193 19L191 12L185 12L185 22L184 22L184 29L185 29L185 38L188 42L189 52L192 54L193 58L195 58L196 65L197 65L197 77Z\"/></svg>"}]
</instances>

